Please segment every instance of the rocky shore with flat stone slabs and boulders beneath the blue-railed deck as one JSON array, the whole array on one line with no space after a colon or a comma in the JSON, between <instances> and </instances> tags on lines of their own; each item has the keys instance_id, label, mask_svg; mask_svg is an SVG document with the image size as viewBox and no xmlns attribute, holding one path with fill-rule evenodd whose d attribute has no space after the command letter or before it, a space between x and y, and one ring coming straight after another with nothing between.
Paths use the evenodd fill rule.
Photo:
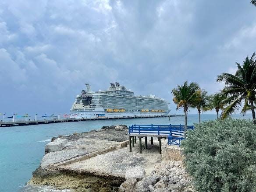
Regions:
<instances>
[{"instance_id":1,"label":"rocky shore with flat stone slabs and boulders beneath the blue-railed deck","mask_svg":"<svg viewBox=\"0 0 256 192\"><path fill-rule=\"evenodd\" d=\"M120 125L53 138L28 184L74 192L193 191L180 149L162 146L160 155L155 144L142 154L138 146L128 152L127 134L127 126ZM133 176L135 172L127 176L133 168L143 176Z\"/></svg>"}]
</instances>

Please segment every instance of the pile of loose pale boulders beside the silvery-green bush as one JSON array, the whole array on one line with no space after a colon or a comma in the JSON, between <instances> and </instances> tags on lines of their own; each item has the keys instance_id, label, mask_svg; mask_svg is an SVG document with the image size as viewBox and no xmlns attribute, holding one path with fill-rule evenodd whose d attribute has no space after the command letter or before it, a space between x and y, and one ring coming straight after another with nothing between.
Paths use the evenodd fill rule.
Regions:
<instances>
[{"instance_id":1,"label":"pile of loose pale boulders beside the silvery-green bush","mask_svg":"<svg viewBox=\"0 0 256 192\"><path fill-rule=\"evenodd\" d=\"M119 192L193 192L192 180L187 175L182 161L164 161L155 166L151 176L135 182L127 179Z\"/></svg>"}]
</instances>

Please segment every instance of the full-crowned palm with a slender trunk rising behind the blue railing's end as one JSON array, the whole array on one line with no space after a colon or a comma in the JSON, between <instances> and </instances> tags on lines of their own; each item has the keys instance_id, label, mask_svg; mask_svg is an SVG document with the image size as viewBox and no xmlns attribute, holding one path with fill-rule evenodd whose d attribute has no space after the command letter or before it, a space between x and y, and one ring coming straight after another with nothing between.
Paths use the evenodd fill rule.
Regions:
<instances>
[{"instance_id":1,"label":"full-crowned palm with a slender trunk rising behind the blue railing's end","mask_svg":"<svg viewBox=\"0 0 256 192\"><path fill-rule=\"evenodd\" d=\"M189 107L194 104L194 99L196 98L196 93L199 90L199 85L192 82L188 85L188 81L185 81L183 85L178 85L178 88L172 90L173 101L177 105L177 109L183 108L185 114L185 130L184 136L186 137L187 131L187 111Z\"/></svg>"}]
</instances>

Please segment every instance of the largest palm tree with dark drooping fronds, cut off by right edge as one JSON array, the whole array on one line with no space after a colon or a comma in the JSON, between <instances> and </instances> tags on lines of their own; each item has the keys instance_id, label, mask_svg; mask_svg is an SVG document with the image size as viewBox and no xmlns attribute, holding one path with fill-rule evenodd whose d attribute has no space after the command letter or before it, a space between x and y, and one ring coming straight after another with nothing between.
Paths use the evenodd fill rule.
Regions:
<instances>
[{"instance_id":1,"label":"largest palm tree with dark drooping fronds, cut off by right edge","mask_svg":"<svg viewBox=\"0 0 256 192\"><path fill-rule=\"evenodd\" d=\"M254 103L256 103L256 60L254 58L255 52L251 58L249 56L245 58L242 66L236 63L238 70L235 75L222 73L217 77L218 82L225 82L222 92L228 97L226 101L229 104L222 113L222 118L234 113L242 106L242 101L244 101L241 113L245 115L246 111L251 110L253 123L256 124L254 111Z\"/></svg>"}]
</instances>

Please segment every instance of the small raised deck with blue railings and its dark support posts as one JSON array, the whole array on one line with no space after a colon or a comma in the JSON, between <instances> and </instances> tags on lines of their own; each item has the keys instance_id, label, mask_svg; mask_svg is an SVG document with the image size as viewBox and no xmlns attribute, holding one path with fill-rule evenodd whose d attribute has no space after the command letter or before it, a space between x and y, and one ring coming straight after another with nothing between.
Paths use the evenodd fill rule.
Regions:
<instances>
[{"instance_id":1,"label":"small raised deck with blue railings and its dark support posts","mask_svg":"<svg viewBox=\"0 0 256 192\"><path fill-rule=\"evenodd\" d=\"M194 126L187 126L187 129L194 129ZM145 138L145 149L147 149L147 138L151 137L151 145L153 145L153 137L158 139L159 153L161 150L161 139L168 139L169 145L178 145L180 147L181 140L184 140L184 125L132 125L129 126L129 147L132 152L132 147L136 143L136 137L139 138L139 153L142 153L142 141Z\"/></svg>"}]
</instances>

